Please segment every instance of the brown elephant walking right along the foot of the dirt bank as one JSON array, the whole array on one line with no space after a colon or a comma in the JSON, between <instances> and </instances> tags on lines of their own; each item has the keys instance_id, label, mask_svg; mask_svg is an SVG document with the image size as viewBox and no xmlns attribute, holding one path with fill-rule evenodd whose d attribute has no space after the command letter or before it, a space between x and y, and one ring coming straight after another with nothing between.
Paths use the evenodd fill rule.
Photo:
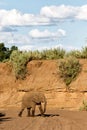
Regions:
<instances>
[{"instance_id":1,"label":"brown elephant walking right along the foot of the dirt bank","mask_svg":"<svg viewBox=\"0 0 87 130\"><path fill-rule=\"evenodd\" d=\"M44 103L44 108L42 108L42 104ZM41 115L44 115L46 111L46 97L41 92L26 92L22 98L22 108L19 112L19 116L22 116L22 113L25 108L27 108L28 116L35 115L35 107L38 105Z\"/></svg>"}]
</instances>

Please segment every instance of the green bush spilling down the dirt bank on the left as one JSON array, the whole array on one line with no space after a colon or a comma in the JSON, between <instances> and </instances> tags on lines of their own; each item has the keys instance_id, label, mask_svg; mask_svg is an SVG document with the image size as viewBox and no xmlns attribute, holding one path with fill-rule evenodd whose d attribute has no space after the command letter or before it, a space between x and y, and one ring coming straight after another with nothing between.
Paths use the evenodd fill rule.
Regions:
<instances>
[{"instance_id":1,"label":"green bush spilling down the dirt bank on the left","mask_svg":"<svg viewBox=\"0 0 87 130\"><path fill-rule=\"evenodd\" d=\"M27 74L27 63L29 61L28 53L15 50L10 56L13 72L16 79L24 79Z\"/></svg>"}]
</instances>

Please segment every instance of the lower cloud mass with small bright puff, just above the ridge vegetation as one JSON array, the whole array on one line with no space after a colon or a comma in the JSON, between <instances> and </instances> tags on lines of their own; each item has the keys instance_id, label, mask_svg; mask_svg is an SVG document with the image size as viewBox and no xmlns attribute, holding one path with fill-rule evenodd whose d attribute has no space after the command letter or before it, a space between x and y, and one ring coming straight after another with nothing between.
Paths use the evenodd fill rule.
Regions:
<instances>
[{"instance_id":1,"label":"lower cloud mass with small bright puff, just above the ridge vegetation","mask_svg":"<svg viewBox=\"0 0 87 130\"><path fill-rule=\"evenodd\" d=\"M66 36L66 32L62 29L58 29L55 32L33 29L28 34L3 31L0 32L0 42L4 42L8 47L15 45L20 50L43 50L60 46L56 45L55 41L64 36Z\"/></svg>"}]
</instances>

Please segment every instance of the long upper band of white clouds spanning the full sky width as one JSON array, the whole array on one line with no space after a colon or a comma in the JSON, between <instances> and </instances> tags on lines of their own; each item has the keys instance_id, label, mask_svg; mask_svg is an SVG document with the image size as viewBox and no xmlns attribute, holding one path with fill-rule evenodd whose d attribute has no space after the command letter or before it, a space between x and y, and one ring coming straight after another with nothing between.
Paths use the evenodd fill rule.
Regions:
<instances>
[{"instance_id":1,"label":"long upper band of white clouds spanning the full sky width","mask_svg":"<svg viewBox=\"0 0 87 130\"><path fill-rule=\"evenodd\" d=\"M0 9L0 26L53 25L65 19L87 20L87 5L83 6L45 6L40 14L22 13L16 9Z\"/></svg>"}]
</instances>

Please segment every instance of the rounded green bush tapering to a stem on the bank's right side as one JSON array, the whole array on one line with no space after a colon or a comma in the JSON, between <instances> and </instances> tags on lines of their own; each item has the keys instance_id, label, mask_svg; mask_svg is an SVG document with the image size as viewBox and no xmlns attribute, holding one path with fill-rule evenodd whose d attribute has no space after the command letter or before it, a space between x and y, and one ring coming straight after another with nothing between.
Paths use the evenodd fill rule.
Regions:
<instances>
[{"instance_id":1,"label":"rounded green bush tapering to a stem on the bank's right side","mask_svg":"<svg viewBox=\"0 0 87 130\"><path fill-rule=\"evenodd\" d=\"M67 86L75 80L81 71L81 64L75 57L68 57L60 61L59 74Z\"/></svg>"}]
</instances>

